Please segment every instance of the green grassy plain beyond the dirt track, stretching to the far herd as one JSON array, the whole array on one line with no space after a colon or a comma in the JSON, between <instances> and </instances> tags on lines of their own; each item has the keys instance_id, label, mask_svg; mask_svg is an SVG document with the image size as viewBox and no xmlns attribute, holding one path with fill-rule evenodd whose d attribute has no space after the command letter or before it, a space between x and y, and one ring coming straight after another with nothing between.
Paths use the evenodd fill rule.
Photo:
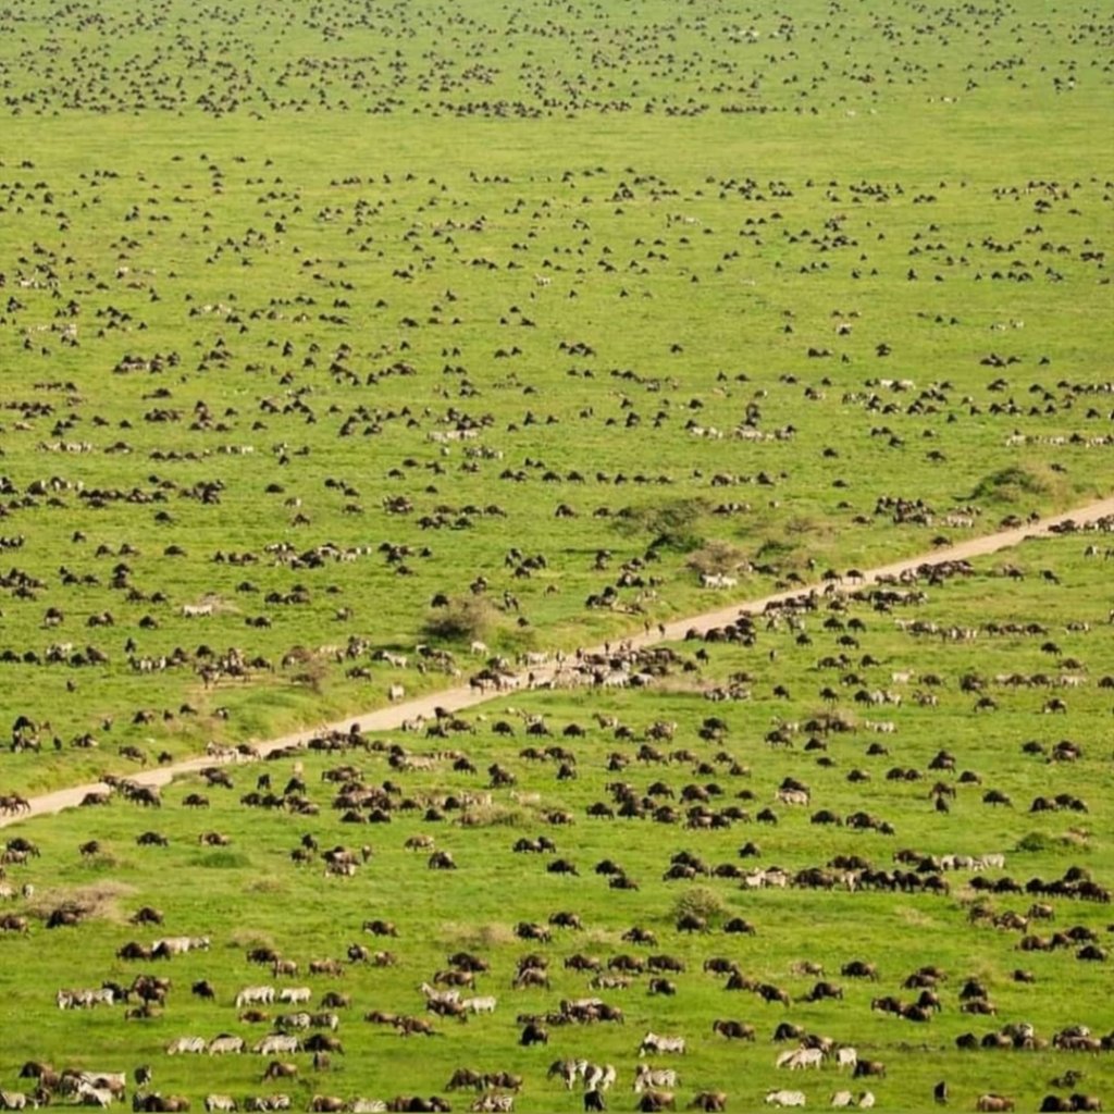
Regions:
<instances>
[{"instance_id":1,"label":"green grassy plain beyond the dirt track, stretching to the far herd","mask_svg":"<svg viewBox=\"0 0 1114 1114\"><path fill-rule=\"evenodd\" d=\"M108 662L3 665L61 747L4 783L382 701L329 647L480 576L492 649L573 646L698 605L707 541L758 592L1108 491L1110 27L938 16L10 8L0 641Z\"/></svg>"}]
</instances>

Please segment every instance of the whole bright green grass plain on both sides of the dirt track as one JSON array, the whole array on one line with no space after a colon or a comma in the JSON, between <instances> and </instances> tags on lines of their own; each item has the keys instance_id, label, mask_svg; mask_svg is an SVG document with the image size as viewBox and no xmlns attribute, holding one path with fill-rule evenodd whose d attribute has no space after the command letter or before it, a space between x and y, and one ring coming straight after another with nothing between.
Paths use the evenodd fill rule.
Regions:
<instances>
[{"instance_id":1,"label":"whole bright green grass plain on both sides of the dirt track","mask_svg":"<svg viewBox=\"0 0 1114 1114\"><path fill-rule=\"evenodd\" d=\"M723 602L701 573L759 596L1111 492L1108 7L782 7L23 0L0 12L0 721L16 744L0 753L0 792L251 743L383 704L391 685L432 692L478 666L473 641L514 659L618 638ZM850 605L867 632L839 672L863 673L868 690L892 687L895 672L938 673L936 706L854 705L853 684L817 670L840 653L819 616L807 619L811 645L790 629L763 631L753 649L710 645L709 662L651 693L515 703L555 730L595 712L636 733L676 721L677 747L715 766L730 795L755 794L741 808L803 778L813 807L755 825L762 864L799 870L853 851L889 868L910 846L1005 852L1023 881L1083 864L1108 886L1111 697L1098 681L1114 673L1114 593L1107 547L1086 540L1095 556L1078 537L1033 544L929 587L910 609L945 627L1035 622L1046 636L916 637ZM1010 563L1024 579L997 575ZM1084 622L1088 632L1066 629ZM882 664L858 665L867 653ZM1086 668L1061 665L1073 656ZM751 698L729 705L727 737L700 740L725 706L702 691L741 672ZM959 688L967 673L1039 672L1083 682L988 680L998 709L978 714L979 694ZM772 695L778 684L788 698ZM859 725L827 740L833 764L815 766L803 740L771 750L773 719L814 717L825 686ZM1065 715L1042 713L1054 696ZM753 1106L802 1073L786 1083L773 1067L769 1037L786 1010L725 995L700 971L717 952L786 987L788 1015L810 1030L877 1051L889 1074L867 1083L891 1108L930 1105L938 1078L957 1106L984 1091L1036 1105L1082 1059L959 1053L955 1037L1007 1020L1046 1037L1114 1025L1108 962L1016 952L1018 934L969 921L967 876L949 878L947 897L751 893L697 879L719 896L720 924L753 905L758 936L676 934L674 903L692 887L661 881L670 854L733 860L752 830L584 810L617 776L680 792L713 775L687 762L684 773L607 771L610 750L634 747L594 725L575 745L579 776L556 782L553 763L517 758L521 720L497 707L460 741L480 774L442 764L405 774L405 791L483 791L486 768L509 764L517 789L576 817L554 838L579 879L511 854L543 828L536 805L502 791L476 829L395 815L370 833L375 854L353 879L293 870L303 831L323 848L364 842L335 828L320 782L346 758L300 759L321 805L304 822L236 803L253 770L235 772L234 792L211 792L208 813L180 807L199 791L188 783L157 817L117 801L28 825L43 854L8 868L38 896L12 906L29 911L31 934L0 938L4 1086L41 1055L114 1069L153 1061L157 1087L195 1103L209 1089L246 1094L257 1057L204 1057L198 1069L160 1049L194 1032L248 1032L231 1006L240 986L265 980L244 962L247 945L273 942L304 969L343 956L370 916L398 921L399 966L346 969L346 1055L320 1079L301 1057L303 1105L314 1091L440 1093L476 1063L526 1076L519 1108L575 1108L579 1096L545 1078L566 1055L615 1063L623 1105L652 1027L691 1038L683 1101L722 1086L732 1108ZM512 743L490 732L499 719L516 725ZM862 756L873 739L862 719L893 722L892 739L878 736L890 759ZM1022 751L1061 737L1083 758ZM727 775L721 747L750 775ZM941 747L983 779L947 814L926 795ZM394 776L382 751L352 761L369 782ZM891 762L926 780L887 780ZM852 766L871 780L848 782ZM290 763L277 770L285 782ZM981 804L989 789L1013 809ZM1055 792L1089 811L1026 811ZM810 824L817 807L877 810L898 834ZM136 847L148 825L170 847ZM231 847L199 849L209 827ZM458 872L404 849L427 829ZM82 858L89 839L105 850ZM590 871L605 857L641 889L607 889ZM98 910L76 946L38 917L66 895ZM130 979L134 966L113 956L139 937L126 917L146 901L165 908L168 931L213 938L167 965L164 1015L56 1009L60 986ZM1029 903L994 899L996 911ZM1105 930L1105 907L1055 905L1055 928ZM528 948L514 926L566 908L586 929L549 947L554 989L510 991ZM548 1049L519 1048L517 1013L589 993L560 960L629 950L619 935L636 921L684 958L677 995L636 981L618 996L624 1027L563 1027ZM418 981L458 947L490 955L494 1017L439 1023L444 1036L430 1040L359 1020L420 1013ZM877 960L877 986L838 977L857 957ZM812 980L790 964L802 959L844 984L842 1004L800 1004ZM949 974L941 1015L915 1025L870 1010L936 961ZM1035 985L1010 980L1019 965ZM997 1018L959 1014L968 975L989 983ZM188 993L206 976L215 1005ZM717 1017L754 1023L759 1040L713 1039ZM1085 1059L1081 1087L1110 1103L1107 1057ZM827 1103L834 1076L804 1081L810 1105Z\"/></svg>"}]
</instances>

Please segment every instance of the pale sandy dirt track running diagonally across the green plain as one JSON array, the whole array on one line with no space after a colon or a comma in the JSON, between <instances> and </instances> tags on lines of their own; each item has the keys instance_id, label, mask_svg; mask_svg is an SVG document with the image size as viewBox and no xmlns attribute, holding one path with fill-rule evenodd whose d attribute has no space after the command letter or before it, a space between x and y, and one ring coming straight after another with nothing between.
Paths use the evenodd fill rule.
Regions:
<instances>
[{"instance_id":1,"label":"pale sandy dirt track running diagonally across the green plain","mask_svg":"<svg viewBox=\"0 0 1114 1114\"><path fill-rule=\"evenodd\" d=\"M1083 526L1087 522L1093 522L1096 519L1107 516L1114 516L1114 497L1102 499L1098 502L1088 504L1084 507L1077 507L1074 510L1042 519L1037 524L1028 524L1018 529L999 530L996 534L986 534L977 538L970 538L967 541L961 541L954 546L934 549L931 553L921 554L917 557L910 557L907 560L895 561L891 565L882 565L878 568L864 569L863 579L868 584L874 583L879 577L896 576L906 569L916 568L918 565L926 561L979 557L985 554L996 553L999 549L1008 549L1012 546L1018 545L1026 538L1045 536L1051 532L1052 527L1067 521L1068 519L1073 519L1076 524ZM672 623L665 624L664 631L655 627L651 633L634 635L626 639L626 642L636 647L649 646L658 642L680 642L684 638L686 632L688 631L706 631L714 626L723 626L733 622L743 612L761 612L771 602L784 599L789 596L797 596L800 595L801 592L807 590L809 590L809 586L795 587L789 592L774 593L773 595L763 596L759 599L735 600L730 605L716 608L714 612L705 612L701 615L675 619ZM603 647L598 648L603 649ZM545 680L549 675L549 672L550 671L546 668L534 671L537 680ZM430 693L417 700L392 704L389 707L379 709L374 712L369 712L365 715L350 716L340 723L321 724L316 727L311 727L294 734L283 735L278 739L272 739L264 743L255 743L254 749L261 755L265 755L280 747L304 746L314 735L320 735L322 732L333 729L346 731L353 723L359 724L361 731L393 731L398 730L403 720L412 720L418 716L424 716L427 719L431 717L436 707L442 707L455 712L492 698L494 697L491 695L477 694L468 685L459 685L453 688L446 688L440 692ZM185 762L177 762L174 765L144 770L131 775L131 780L144 785L165 785L173 778L179 774L213 765L213 761L214 760L208 756L189 759ZM0 818L0 828L16 823L20 820L26 820L28 819L28 815L37 817L61 812L63 809L76 808L80 804L81 799L86 793L105 791L107 789L108 786L102 782L94 782L86 785L74 785L70 789L61 789L53 793L46 793L41 797L32 798L30 802L30 814L25 812L22 817Z\"/></svg>"}]
</instances>

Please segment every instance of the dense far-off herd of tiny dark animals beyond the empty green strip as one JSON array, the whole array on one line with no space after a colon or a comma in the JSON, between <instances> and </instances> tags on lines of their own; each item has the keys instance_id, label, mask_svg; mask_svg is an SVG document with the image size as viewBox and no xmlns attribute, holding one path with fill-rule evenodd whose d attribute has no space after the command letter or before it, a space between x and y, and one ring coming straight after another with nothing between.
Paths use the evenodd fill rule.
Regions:
<instances>
[{"instance_id":1,"label":"dense far-off herd of tiny dark animals beyond the empty green strip","mask_svg":"<svg viewBox=\"0 0 1114 1114\"><path fill-rule=\"evenodd\" d=\"M1105 80L1110 13L1079 4L439 2L369 9L169 2L143 11L19 0L12 117L409 116L536 121L817 116L1010 97L1069 113ZM1095 59L1097 65L1092 61ZM1096 72L1097 71L1097 72ZM997 124L998 121L995 120ZM356 125L359 126L359 125Z\"/></svg>"}]
</instances>

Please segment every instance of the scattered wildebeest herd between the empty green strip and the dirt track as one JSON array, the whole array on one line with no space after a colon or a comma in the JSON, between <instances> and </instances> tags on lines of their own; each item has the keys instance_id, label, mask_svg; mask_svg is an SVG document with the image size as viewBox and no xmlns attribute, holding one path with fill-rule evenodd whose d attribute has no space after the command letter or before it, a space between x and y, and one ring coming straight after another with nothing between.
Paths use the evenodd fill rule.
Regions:
<instances>
[{"instance_id":1,"label":"scattered wildebeest herd between the empty green strip and the dirt track","mask_svg":"<svg viewBox=\"0 0 1114 1114\"><path fill-rule=\"evenodd\" d=\"M226 192L243 196L243 184L227 183L207 165L205 204L219 206ZM36 174L29 168L6 183L9 208L41 206L61 192L61 183L36 180ZM13 711L53 729L41 737L22 733L21 746L97 745L115 710L80 714L88 670L113 678L111 697L95 703L115 704L140 687L153 694L150 705L176 697L178 711L162 713L172 741L183 734L197 740L207 730L190 725L198 681L212 690L227 678L271 685L280 677L305 688L328 677L345 687L353 706L398 700L404 690L393 663L407 655L423 675L459 677L470 661L461 649L470 643L529 652L540 651L555 632L568 644L583 641L585 631L648 628L671 609L698 606L697 589L731 592L741 577L755 593L791 587L818 575L837 548L861 559L885 551L889 537L908 554L1015 525L1020 500L1074 496L1082 502L1103 490L1114 447L1111 383L1057 368L1042 354L1047 338L1039 324L1026 331L1024 321L1008 316L941 317L927 309L938 304L934 294L918 301L924 320L902 352L889 323L869 310L770 307L760 317L776 338L774 363L800 369L774 373L719 365L706 339L685 338L682 303L661 320L674 322L684 342L648 352L649 367L639 371L623 365L629 341L622 335L568 340L548 316L567 312L547 306L551 286L574 297L586 270L605 268L608 295L627 293L627 280L607 277L607 268L615 270L610 246L579 247L575 265L561 261L564 250L535 258L532 276L509 273L525 267L512 257L497 264L477 247L480 254L463 265L471 272L486 260L480 277L458 292L447 275L421 309L380 322L397 342L368 348L342 339L351 335L346 314L334 322L321 312L324 290L333 291L334 304L364 305L374 294L377 276L344 278L344 258L328 266L306 260L320 270L303 274L299 266L293 282L300 292L290 299L252 286L229 301L198 304L202 295L184 274L156 274L147 265L155 245L169 246L160 237L174 235L158 224L143 240L109 241L119 248L110 268L67 254L71 225L102 235L107 229L89 215L96 202L118 204L133 188L115 172L78 177L84 183L75 189L87 207L67 214L53 246L36 237L3 275L12 293L2 325L23 378L3 403L0 545L10 566L0 574L7 593L0 670L13 690L31 692L30 706ZM381 237L367 228L375 225L375 213L390 209L389 177L367 183L384 198L336 206L336 219L350 222L346 232L356 240L363 233L363 246ZM603 177L609 189L620 176ZM655 201L675 192L654 176L623 188ZM721 179L713 188L761 211L793 204L784 183ZM856 195L853 183L849 194L837 183L793 188L802 204L821 194L842 201ZM965 285L984 276L1010 282L1019 273L996 270L995 257L1037 252L1049 266L1057 261L1059 277L1071 258L1076 282L1101 283L1101 250L1079 245L1073 252L1047 241L1040 224L1102 188L1026 184L1019 194L1036 223L1009 244L993 237L970 244L962 258L944 258L939 253L958 248L937 243L935 277L956 272ZM297 193L287 198L285 190L264 187L258 202L276 225L293 224L302 209ZM745 227L747 217L742 231L753 234L759 265L769 271L773 258L775 272L782 251L815 262L852 250L846 229L885 225L896 193L889 187L874 196L878 207L841 217L822 234L795 224L772 234L760 229L768 221L776 225L780 213L755 218L753 228ZM271 204L272 197L282 199ZM157 194L153 202L158 208ZM446 267L437 241L448 244L458 234L452 219L436 223L431 234L423 207L391 226L390 252L380 250L384 273L397 251L421 256L387 280L392 293L401 289L403 304L426 302L424 294L414 299L405 291L423 270ZM176 251L186 252L201 274L216 267L217 283L242 282L218 258L219 245L202 262L198 250L209 252L212 238L197 233L192 203L186 215L186 246ZM553 227L536 215L541 227ZM22 219L26 211L17 226ZM569 221L575 227L582 219L565 213L558 223L567 232ZM625 235L622 217L602 212L592 219ZM932 224L895 231L908 237L910 252L921 252L918 241ZM678 223L662 243L685 251L690 238L707 238L697 231L713 232ZM465 234L478 242L488 235L486 223ZM763 246L768 235L774 243ZM255 236L248 231L238 241L235 254L246 272L236 270L281 273L266 256L285 253L286 241L264 244L256 255ZM717 232L713 238L736 237ZM294 255L301 251L295 245ZM664 247L657 254L666 262L647 256L626 268L645 287L643 295L673 270ZM714 278L716 271L751 268L755 257L711 262L705 274ZM461 264L448 266L455 275ZM490 268L499 274L487 286L482 275ZM968 268L978 274L965 275ZM909 286L919 281L903 272L893 277ZM1026 271L1025 277L1037 276ZM1053 290L1055 278L1046 271L1043 287ZM486 321L500 312L487 302L502 296L505 286L515 293L504 302L496 335L507 329L517 339L519 326L527 326L525 333L546 339L495 345L490 332L487 343L477 339L476 315ZM170 291L180 306L167 313ZM639 317L619 320L642 328ZM183 328L201 350L196 360L184 346L147 340L169 339ZM962 339L948 351L961 362L961 374L902 373L924 358L925 344L940 343L940 330L957 328ZM467 363L462 353L470 353ZM505 373L504 360L515 370ZM550 360L564 369L565 382L538 370ZM877 373L895 361L897 374ZM1014 363L1026 364L1030 378L1009 372ZM59 364L76 370L58 377ZM987 364L993 378L983 374ZM102 391L98 380L109 368L111 387ZM820 370L810 373L813 368ZM231 382L235 399L222 403L219 392ZM590 449L575 451L582 442ZM893 482L885 486L864 479L891 470ZM1093 478L1098 482L1091 487ZM229 522L236 524L231 531ZM693 538L716 536L730 540L693 553ZM455 606L466 609L460 622ZM472 618L468 607L479 609ZM49 680L29 685L32 677ZM148 706L115 723L126 758L158 753L144 745L158 715Z\"/></svg>"}]
</instances>

